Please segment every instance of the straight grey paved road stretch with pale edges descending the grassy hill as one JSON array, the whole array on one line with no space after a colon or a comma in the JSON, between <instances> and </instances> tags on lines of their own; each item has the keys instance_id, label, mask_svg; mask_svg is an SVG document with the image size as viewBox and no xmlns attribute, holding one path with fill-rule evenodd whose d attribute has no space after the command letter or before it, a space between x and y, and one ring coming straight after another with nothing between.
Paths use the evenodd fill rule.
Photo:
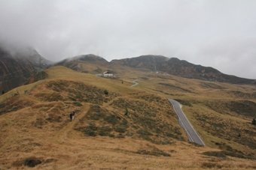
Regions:
<instances>
[{"instance_id":1,"label":"straight grey paved road stretch with pale edges descending the grassy hill","mask_svg":"<svg viewBox=\"0 0 256 170\"><path fill-rule=\"evenodd\" d=\"M196 130L194 130L190 122L187 120L187 117L186 115L184 115L184 112L182 112L179 103L176 100L172 100L172 99L168 99L168 100L170 103L172 103L173 109L178 115L178 123L181 125L181 127L184 128L184 130L186 130L187 136L190 142L195 142L199 145L205 145L203 143L203 140L200 139L200 136L198 136Z\"/></svg>"}]
</instances>

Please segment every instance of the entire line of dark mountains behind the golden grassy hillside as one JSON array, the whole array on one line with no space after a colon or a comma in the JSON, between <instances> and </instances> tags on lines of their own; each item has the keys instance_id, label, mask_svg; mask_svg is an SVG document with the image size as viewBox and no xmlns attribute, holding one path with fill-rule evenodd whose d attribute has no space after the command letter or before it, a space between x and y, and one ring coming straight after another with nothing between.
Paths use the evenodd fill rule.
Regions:
<instances>
[{"instance_id":1,"label":"entire line of dark mountains behind the golden grassy hillside","mask_svg":"<svg viewBox=\"0 0 256 170\"><path fill-rule=\"evenodd\" d=\"M215 82L233 84L254 84L255 79L245 79L230 76L212 67L191 64L178 58L166 58L162 55L142 55L136 58L106 61L97 55L79 55L66 58L56 64L43 58L35 49L5 49L0 46L0 90L9 91L28 82L38 71L53 65L62 65L82 73L90 73L83 64L90 64L96 69L91 73L102 73L106 68L130 67L131 69L146 69L155 73L168 73L189 79L203 79ZM115 70L118 73L118 70ZM35 77L33 81L36 81Z\"/></svg>"}]
</instances>

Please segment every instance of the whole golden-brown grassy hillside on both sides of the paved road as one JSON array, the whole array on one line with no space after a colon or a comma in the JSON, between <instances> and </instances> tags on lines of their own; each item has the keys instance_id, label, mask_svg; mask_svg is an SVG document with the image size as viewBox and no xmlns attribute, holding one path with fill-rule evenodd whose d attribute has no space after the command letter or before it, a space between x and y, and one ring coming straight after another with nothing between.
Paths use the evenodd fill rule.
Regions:
<instances>
[{"instance_id":1,"label":"whole golden-brown grassy hillside on both sides of the paved road","mask_svg":"<svg viewBox=\"0 0 256 170\"><path fill-rule=\"evenodd\" d=\"M115 69L52 67L2 95L0 169L256 169L255 86ZM167 97L206 147L188 142Z\"/></svg>"}]
</instances>

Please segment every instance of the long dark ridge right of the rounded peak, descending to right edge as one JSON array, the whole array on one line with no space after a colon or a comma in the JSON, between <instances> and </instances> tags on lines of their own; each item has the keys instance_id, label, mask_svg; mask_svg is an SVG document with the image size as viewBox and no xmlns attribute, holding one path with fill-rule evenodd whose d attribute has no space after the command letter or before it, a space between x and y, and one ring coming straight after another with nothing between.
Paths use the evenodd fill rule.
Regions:
<instances>
[{"instance_id":1,"label":"long dark ridge right of the rounded peak, descending to right edge","mask_svg":"<svg viewBox=\"0 0 256 170\"><path fill-rule=\"evenodd\" d=\"M166 58L161 55L142 55L137 58L126 58L111 61L115 64L133 68L147 68L155 72L169 73L190 79L203 79L214 82L228 82L233 84L256 84L254 79L244 79L230 76L212 67L191 64L178 58Z\"/></svg>"}]
</instances>

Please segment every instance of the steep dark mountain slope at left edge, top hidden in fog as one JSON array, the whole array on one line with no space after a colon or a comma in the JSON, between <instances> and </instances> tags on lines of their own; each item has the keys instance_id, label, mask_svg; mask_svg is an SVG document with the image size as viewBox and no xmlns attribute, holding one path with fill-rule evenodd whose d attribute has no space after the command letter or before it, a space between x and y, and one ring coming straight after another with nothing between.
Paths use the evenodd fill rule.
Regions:
<instances>
[{"instance_id":1,"label":"steep dark mountain slope at left edge, top hidden in fog","mask_svg":"<svg viewBox=\"0 0 256 170\"><path fill-rule=\"evenodd\" d=\"M9 50L5 46L0 46L0 89L6 92L23 85L35 73L47 68L50 63L35 49L28 47Z\"/></svg>"}]
</instances>

